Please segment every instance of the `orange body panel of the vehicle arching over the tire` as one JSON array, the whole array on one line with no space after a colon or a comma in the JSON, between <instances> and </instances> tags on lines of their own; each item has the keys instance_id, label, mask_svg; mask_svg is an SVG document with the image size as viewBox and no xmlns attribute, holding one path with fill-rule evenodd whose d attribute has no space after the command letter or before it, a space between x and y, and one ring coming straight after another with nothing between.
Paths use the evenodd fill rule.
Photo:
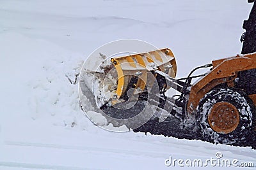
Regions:
<instances>
[{"instance_id":1,"label":"orange body panel of the vehicle arching over the tire","mask_svg":"<svg viewBox=\"0 0 256 170\"><path fill-rule=\"evenodd\" d=\"M217 85L226 83L228 87L235 87L235 80L239 72L256 69L256 53L214 60L212 66L209 74L192 85L187 105L188 113L195 113L200 99ZM251 81L248 80L247 83ZM248 96L256 104L256 94L248 94Z\"/></svg>"}]
</instances>

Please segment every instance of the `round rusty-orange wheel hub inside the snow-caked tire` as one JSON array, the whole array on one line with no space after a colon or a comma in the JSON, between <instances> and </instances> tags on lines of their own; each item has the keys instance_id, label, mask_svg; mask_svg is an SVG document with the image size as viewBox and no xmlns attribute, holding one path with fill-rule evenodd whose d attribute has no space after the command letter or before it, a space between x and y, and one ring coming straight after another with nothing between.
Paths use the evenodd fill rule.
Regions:
<instances>
[{"instance_id":1,"label":"round rusty-orange wheel hub inside the snow-caked tire","mask_svg":"<svg viewBox=\"0 0 256 170\"><path fill-rule=\"evenodd\" d=\"M228 102L214 104L208 115L208 122L211 128L222 134L234 131L239 121L239 111L236 106Z\"/></svg>"}]
</instances>

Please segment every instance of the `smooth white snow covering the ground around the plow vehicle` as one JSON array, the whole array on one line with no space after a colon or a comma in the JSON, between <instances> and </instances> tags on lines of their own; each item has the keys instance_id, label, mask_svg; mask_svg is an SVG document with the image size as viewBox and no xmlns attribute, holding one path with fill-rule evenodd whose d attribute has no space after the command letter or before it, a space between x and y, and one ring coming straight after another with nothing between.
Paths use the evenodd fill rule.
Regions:
<instances>
[{"instance_id":1,"label":"smooth white snow covering the ground around the plow vehicle","mask_svg":"<svg viewBox=\"0 0 256 170\"><path fill-rule=\"evenodd\" d=\"M2 0L0 169L171 169L170 156L216 152L254 169L250 147L104 131L84 117L72 84L86 57L116 39L172 48L178 77L236 55L250 8L244 0Z\"/></svg>"}]
</instances>

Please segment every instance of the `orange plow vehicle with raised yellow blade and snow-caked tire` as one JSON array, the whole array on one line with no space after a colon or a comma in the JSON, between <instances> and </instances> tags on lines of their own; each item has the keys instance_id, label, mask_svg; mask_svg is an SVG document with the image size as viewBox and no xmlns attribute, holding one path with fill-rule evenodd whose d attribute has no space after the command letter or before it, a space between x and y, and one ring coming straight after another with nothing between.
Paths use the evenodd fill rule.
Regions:
<instances>
[{"instance_id":1,"label":"orange plow vehicle with raised yellow blade and snow-caked tire","mask_svg":"<svg viewBox=\"0 0 256 170\"><path fill-rule=\"evenodd\" d=\"M235 143L255 130L256 53L214 60L196 67L211 67L209 72L177 80L175 57L168 48L111 58L111 63L117 81L109 99L99 104L101 110L113 108L118 114L121 108L115 105L147 101L181 121L195 120L193 125L200 128L204 139L218 143ZM191 84L193 78L199 79ZM180 92L177 99L165 95L168 89Z\"/></svg>"}]
</instances>

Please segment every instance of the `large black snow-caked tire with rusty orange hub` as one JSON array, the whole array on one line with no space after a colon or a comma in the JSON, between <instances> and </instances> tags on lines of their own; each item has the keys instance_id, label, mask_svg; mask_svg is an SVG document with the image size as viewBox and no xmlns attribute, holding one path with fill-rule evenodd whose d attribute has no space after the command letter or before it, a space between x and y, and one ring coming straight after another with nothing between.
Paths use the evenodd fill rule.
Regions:
<instances>
[{"instance_id":1,"label":"large black snow-caked tire with rusty orange hub","mask_svg":"<svg viewBox=\"0 0 256 170\"><path fill-rule=\"evenodd\" d=\"M239 115L239 117L237 117L238 120L236 126L234 126L234 129L232 129L230 132L223 132L219 129L216 131L216 126L220 124L222 125L223 121L226 122L225 125L227 125L228 121L232 121L232 124L235 124L234 122L236 122L236 120L233 122L230 117L223 118L226 117L226 112L221 114L223 110L220 112L220 108L216 108L216 106L218 107L221 104L227 104L227 106L235 107L235 109L237 109L235 111L237 111L237 114ZM216 110L219 112L217 113ZM250 134L250 132L252 132L253 110L254 106L251 104L250 98L246 97L243 92L232 89L214 89L205 94L205 96L200 100L197 108L196 120L205 141L212 143L234 144L243 141ZM232 110L231 114L233 113L234 110ZM214 121L218 119L218 117L222 117L223 119L219 118L220 120L218 120L221 123L218 122L218 124L214 126L214 122L211 122L211 119L213 119L212 114L215 114ZM236 116L232 116L232 118L236 118ZM226 127L223 127L223 129L226 129Z\"/></svg>"}]
</instances>

